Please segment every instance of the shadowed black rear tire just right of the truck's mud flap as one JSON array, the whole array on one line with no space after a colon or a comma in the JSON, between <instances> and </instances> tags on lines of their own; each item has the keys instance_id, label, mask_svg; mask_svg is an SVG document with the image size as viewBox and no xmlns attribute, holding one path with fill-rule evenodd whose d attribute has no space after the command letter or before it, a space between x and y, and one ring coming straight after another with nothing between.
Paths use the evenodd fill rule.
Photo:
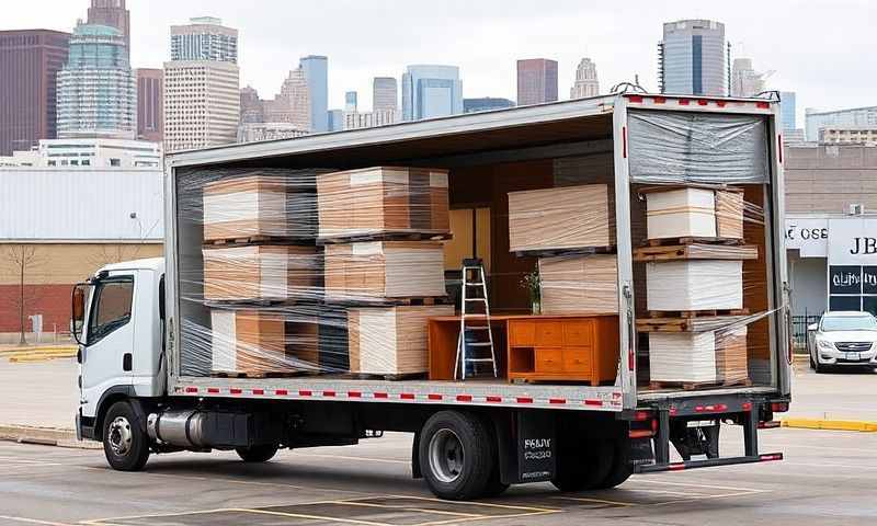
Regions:
<instances>
[{"instance_id":1,"label":"shadowed black rear tire just right of the truck's mud flap","mask_svg":"<svg viewBox=\"0 0 877 526\"><path fill-rule=\"evenodd\" d=\"M586 491L601 488L610 476L615 450L607 438L560 442L551 483L560 491Z\"/></svg>"}]
</instances>

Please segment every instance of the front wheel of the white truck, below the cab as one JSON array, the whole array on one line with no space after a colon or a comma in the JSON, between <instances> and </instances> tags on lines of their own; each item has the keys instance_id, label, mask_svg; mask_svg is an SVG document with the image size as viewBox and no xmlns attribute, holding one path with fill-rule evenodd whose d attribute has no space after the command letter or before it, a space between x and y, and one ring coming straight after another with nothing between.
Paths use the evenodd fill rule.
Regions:
<instances>
[{"instance_id":1,"label":"front wheel of the white truck, below the cab","mask_svg":"<svg viewBox=\"0 0 877 526\"><path fill-rule=\"evenodd\" d=\"M103 421L103 453L117 471L139 471L149 459L149 437L140 428L140 415L130 403L110 407Z\"/></svg>"}]
</instances>

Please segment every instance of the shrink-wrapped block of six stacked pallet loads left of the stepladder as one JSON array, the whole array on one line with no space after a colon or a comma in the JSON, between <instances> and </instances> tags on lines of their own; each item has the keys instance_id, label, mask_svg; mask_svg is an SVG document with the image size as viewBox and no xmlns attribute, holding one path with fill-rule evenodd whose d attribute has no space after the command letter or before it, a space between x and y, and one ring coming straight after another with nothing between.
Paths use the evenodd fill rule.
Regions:
<instances>
[{"instance_id":1,"label":"shrink-wrapped block of six stacked pallet loads left of the stepladder","mask_svg":"<svg viewBox=\"0 0 877 526\"><path fill-rule=\"evenodd\" d=\"M446 172L356 171L355 204L353 186L333 186L351 176L180 174L184 375L426 373L425 318L454 313L441 305L443 245L430 239L448 235ZM338 222L354 208L365 214ZM324 230L322 219L337 228Z\"/></svg>"}]
</instances>

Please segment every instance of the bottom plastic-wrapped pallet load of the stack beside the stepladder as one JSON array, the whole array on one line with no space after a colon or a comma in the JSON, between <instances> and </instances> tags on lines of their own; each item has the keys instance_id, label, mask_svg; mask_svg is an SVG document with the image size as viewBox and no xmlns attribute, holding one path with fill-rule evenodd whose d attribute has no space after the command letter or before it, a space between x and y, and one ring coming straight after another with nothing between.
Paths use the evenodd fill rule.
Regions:
<instances>
[{"instance_id":1,"label":"bottom plastic-wrapped pallet load of the stack beside the stepladder","mask_svg":"<svg viewBox=\"0 0 877 526\"><path fill-rule=\"evenodd\" d=\"M453 315L451 305L351 309L351 371L389 376L425 374L429 370L426 319Z\"/></svg>"}]
</instances>

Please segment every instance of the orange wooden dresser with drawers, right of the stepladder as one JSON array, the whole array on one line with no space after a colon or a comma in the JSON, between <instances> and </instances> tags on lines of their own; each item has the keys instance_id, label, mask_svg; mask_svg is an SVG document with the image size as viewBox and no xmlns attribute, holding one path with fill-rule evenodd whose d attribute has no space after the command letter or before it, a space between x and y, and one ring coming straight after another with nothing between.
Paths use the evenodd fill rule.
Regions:
<instances>
[{"instance_id":1,"label":"orange wooden dresser with drawers, right of the stepladder","mask_svg":"<svg viewBox=\"0 0 877 526\"><path fill-rule=\"evenodd\" d=\"M617 316L512 317L508 342L509 380L615 381Z\"/></svg>"}]
</instances>

